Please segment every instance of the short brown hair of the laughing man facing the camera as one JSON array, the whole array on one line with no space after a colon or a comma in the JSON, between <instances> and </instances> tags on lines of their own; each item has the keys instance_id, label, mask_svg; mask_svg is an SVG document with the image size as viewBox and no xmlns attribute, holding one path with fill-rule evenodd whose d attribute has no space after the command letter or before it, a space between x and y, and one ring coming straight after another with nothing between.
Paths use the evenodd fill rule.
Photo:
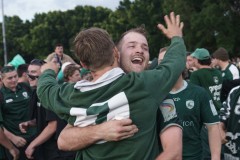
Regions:
<instances>
[{"instance_id":1,"label":"short brown hair of the laughing man facing the camera","mask_svg":"<svg viewBox=\"0 0 240 160\"><path fill-rule=\"evenodd\" d=\"M139 26L137 28L132 28L132 29L124 32L121 35L120 39L117 42L118 50L121 50L121 48L122 48L122 40L123 40L124 36L127 35L128 33L131 33L131 32L139 33L139 34L143 35L147 39L148 34L147 34L147 31L146 31L144 25L141 25L141 26Z\"/></svg>"}]
</instances>

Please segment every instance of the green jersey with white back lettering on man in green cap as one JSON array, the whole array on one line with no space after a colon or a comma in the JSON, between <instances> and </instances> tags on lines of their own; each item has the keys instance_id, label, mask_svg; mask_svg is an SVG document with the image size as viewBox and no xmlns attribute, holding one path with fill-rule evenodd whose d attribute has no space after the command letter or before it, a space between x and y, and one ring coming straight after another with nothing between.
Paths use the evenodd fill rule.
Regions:
<instances>
[{"instance_id":1,"label":"green jersey with white back lettering on man in green cap","mask_svg":"<svg viewBox=\"0 0 240 160\"><path fill-rule=\"evenodd\" d=\"M190 82L205 88L210 93L216 109L220 110L222 104L220 95L223 80L219 70L212 68L196 70L191 74Z\"/></svg>"}]
</instances>

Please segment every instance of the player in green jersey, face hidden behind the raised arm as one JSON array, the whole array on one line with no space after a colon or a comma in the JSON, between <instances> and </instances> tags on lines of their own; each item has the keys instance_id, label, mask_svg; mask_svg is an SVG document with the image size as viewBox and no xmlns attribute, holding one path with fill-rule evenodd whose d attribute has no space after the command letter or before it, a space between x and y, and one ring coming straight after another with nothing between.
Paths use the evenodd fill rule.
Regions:
<instances>
[{"instance_id":1,"label":"player in green jersey, face hidden behind the raised arm","mask_svg":"<svg viewBox=\"0 0 240 160\"><path fill-rule=\"evenodd\" d=\"M166 47L160 50L158 61L161 62ZM197 85L183 80L180 75L177 83L163 101L160 109L175 106L183 127L183 160L201 160L203 147L201 144L201 128L208 129L211 159L219 160L221 137L218 129L219 118L212 99L207 91Z\"/></svg>"}]
</instances>

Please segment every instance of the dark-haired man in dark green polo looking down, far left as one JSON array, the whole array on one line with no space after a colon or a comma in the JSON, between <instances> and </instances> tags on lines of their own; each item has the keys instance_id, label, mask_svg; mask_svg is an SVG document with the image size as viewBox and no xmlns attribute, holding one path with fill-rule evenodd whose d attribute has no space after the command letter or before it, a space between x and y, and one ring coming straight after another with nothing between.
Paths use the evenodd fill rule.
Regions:
<instances>
[{"instance_id":1,"label":"dark-haired man in dark green polo looking down, far left","mask_svg":"<svg viewBox=\"0 0 240 160\"><path fill-rule=\"evenodd\" d=\"M35 128L27 133L21 133L18 125L30 120L29 104L32 90L26 83L18 83L17 72L13 66L3 67L1 73L3 87L0 92L3 100L0 102L0 117L4 133L20 151L19 159L26 159L24 152L35 135ZM6 158L12 159L8 150Z\"/></svg>"}]
</instances>

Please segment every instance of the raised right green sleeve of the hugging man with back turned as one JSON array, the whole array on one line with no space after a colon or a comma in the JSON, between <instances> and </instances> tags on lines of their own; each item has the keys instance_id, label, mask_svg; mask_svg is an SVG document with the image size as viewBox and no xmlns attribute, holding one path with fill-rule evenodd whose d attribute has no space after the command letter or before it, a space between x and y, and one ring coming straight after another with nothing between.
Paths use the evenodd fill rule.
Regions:
<instances>
[{"instance_id":1,"label":"raised right green sleeve of the hugging man with back turned","mask_svg":"<svg viewBox=\"0 0 240 160\"><path fill-rule=\"evenodd\" d=\"M162 101L178 80L185 66L186 47L184 41L180 37L174 37L163 61L156 69L143 72L146 90L158 101Z\"/></svg>"}]
</instances>

